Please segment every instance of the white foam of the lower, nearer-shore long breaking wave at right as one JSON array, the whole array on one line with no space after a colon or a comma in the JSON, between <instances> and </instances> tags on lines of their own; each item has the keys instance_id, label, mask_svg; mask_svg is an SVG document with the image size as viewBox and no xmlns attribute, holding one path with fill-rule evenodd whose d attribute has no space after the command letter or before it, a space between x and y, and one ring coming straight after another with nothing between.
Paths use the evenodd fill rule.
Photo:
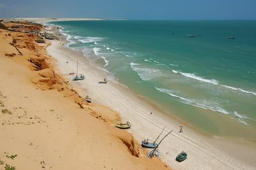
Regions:
<instances>
[{"instance_id":1,"label":"white foam of the lower, nearer-shore long breaking wave at right","mask_svg":"<svg viewBox=\"0 0 256 170\"><path fill-rule=\"evenodd\" d=\"M216 112L221 112L223 114L230 114L229 112L225 111L225 109L221 108L218 104L213 103L213 102L209 102L206 100L192 100L192 99L188 99L188 98L184 98L184 97L180 97L178 95L174 94L174 91L170 90L170 89L164 89L164 88L156 88L158 91L161 91L163 93L166 93L172 97L175 98L179 98L180 100L182 100L182 102L184 104L189 104L189 105L193 105L195 107L200 107L202 109L205 110L211 110L211 111L216 111Z\"/></svg>"}]
</instances>

